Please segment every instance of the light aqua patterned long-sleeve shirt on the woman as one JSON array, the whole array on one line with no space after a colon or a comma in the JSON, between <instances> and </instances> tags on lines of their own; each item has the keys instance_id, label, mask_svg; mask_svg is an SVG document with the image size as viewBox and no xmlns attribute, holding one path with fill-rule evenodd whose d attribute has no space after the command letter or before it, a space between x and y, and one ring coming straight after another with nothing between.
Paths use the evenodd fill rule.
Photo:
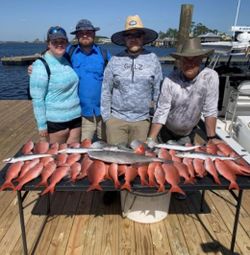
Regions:
<instances>
[{"instance_id":1,"label":"light aqua patterned long-sleeve shirt on the woman","mask_svg":"<svg viewBox=\"0 0 250 255\"><path fill-rule=\"evenodd\" d=\"M47 121L66 122L81 116L78 76L64 58L46 52L44 59L51 75L48 80L44 64L36 60L30 76L30 94L39 130L47 129Z\"/></svg>"}]
</instances>

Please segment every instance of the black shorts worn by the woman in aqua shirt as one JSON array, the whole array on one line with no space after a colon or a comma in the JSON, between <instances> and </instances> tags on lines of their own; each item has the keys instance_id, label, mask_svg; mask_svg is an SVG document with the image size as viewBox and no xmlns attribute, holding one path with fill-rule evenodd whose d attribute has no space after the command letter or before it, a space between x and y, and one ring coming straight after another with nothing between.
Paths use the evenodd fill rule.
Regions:
<instances>
[{"instance_id":1,"label":"black shorts worn by the woman in aqua shirt","mask_svg":"<svg viewBox=\"0 0 250 255\"><path fill-rule=\"evenodd\" d=\"M48 133L55 133L64 129L74 129L82 126L82 117L66 121L66 122L52 122L47 121Z\"/></svg>"}]
</instances>

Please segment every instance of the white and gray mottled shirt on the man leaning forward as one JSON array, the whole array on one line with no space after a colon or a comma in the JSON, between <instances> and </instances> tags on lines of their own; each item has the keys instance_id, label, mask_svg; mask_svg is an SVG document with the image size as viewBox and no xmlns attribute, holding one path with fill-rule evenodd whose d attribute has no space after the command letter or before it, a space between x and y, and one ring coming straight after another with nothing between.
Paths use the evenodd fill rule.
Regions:
<instances>
[{"instance_id":1,"label":"white and gray mottled shirt on the man leaning forward","mask_svg":"<svg viewBox=\"0 0 250 255\"><path fill-rule=\"evenodd\" d=\"M204 117L217 117L218 74L204 68L194 80L187 81L179 70L164 79L153 123L166 125L177 135L189 135Z\"/></svg>"}]
</instances>

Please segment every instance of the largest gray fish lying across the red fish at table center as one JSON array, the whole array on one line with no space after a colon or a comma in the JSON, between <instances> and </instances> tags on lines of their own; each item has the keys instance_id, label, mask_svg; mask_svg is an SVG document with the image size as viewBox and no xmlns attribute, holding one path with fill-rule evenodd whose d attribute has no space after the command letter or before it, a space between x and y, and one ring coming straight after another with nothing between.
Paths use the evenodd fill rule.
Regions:
<instances>
[{"instance_id":1,"label":"largest gray fish lying across the red fish at table center","mask_svg":"<svg viewBox=\"0 0 250 255\"><path fill-rule=\"evenodd\" d=\"M150 163L150 162L165 162L164 159L147 157L138 155L133 152L125 151L89 151L88 155L92 159L98 159L108 163L116 164L136 164L136 163Z\"/></svg>"}]
</instances>

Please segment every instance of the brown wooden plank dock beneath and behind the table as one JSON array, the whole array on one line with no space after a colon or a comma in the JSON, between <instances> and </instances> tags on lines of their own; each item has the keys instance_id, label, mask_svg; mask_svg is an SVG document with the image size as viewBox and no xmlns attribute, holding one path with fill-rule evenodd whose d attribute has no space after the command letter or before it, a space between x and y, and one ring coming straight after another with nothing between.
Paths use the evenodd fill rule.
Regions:
<instances>
[{"instance_id":1,"label":"brown wooden plank dock beneath and behind the table","mask_svg":"<svg viewBox=\"0 0 250 255\"><path fill-rule=\"evenodd\" d=\"M0 101L0 168L28 139L37 140L30 101ZM250 190L243 193L235 252L250 253ZM102 203L102 192L56 192L46 218L46 201L38 192L25 199L28 249L34 254L230 254L235 201L228 191L206 192L200 213L200 193L185 201L172 198L167 218L139 224L121 216L120 201ZM1 254L21 254L22 238L15 192L0 192Z\"/></svg>"}]
</instances>

